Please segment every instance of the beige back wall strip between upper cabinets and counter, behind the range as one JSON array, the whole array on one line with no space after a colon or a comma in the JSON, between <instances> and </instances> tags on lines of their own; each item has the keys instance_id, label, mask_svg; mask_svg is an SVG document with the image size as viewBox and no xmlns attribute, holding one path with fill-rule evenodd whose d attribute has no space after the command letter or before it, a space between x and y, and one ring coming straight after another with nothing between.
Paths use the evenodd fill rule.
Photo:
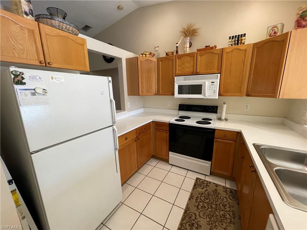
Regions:
<instances>
[{"instance_id":1,"label":"beige back wall strip between upper cabinets and counter, behind the range","mask_svg":"<svg viewBox=\"0 0 307 230\"><path fill-rule=\"evenodd\" d=\"M290 99L277 98L252 98L252 97L219 97L218 99L188 99L174 98L173 96L146 96L145 108L178 109L179 104L218 105L218 113L222 112L223 102L227 103L226 113L286 117ZM168 106L168 101L171 106ZM244 110L244 105L250 104L249 110Z\"/></svg>"}]
</instances>

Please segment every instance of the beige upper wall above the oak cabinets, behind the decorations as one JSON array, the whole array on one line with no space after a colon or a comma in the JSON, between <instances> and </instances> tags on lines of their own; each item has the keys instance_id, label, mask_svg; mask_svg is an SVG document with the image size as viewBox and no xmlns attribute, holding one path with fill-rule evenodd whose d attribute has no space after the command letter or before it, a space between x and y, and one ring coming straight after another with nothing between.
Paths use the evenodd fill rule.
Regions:
<instances>
[{"instance_id":1,"label":"beige upper wall above the oak cabinets, behind the decorations","mask_svg":"<svg viewBox=\"0 0 307 230\"><path fill-rule=\"evenodd\" d=\"M134 10L95 39L135 54L176 48L181 25L196 22L200 36L192 37L190 52L205 45L227 46L228 37L246 33L247 43L266 38L269 25L285 24L284 32L293 29L297 8L305 1L171 1ZM180 44L183 51L183 41Z\"/></svg>"}]
</instances>

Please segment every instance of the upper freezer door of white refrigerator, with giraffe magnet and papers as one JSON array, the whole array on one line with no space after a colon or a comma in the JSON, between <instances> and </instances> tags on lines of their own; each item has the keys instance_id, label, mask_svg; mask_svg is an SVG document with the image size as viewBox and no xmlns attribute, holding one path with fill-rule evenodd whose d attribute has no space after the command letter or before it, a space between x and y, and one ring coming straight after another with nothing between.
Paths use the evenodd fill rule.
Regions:
<instances>
[{"instance_id":1,"label":"upper freezer door of white refrigerator, with giraffe magnet and papers","mask_svg":"<svg viewBox=\"0 0 307 230\"><path fill-rule=\"evenodd\" d=\"M23 72L14 85L29 151L35 151L114 123L108 77L10 68ZM112 90L112 88L111 88Z\"/></svg>"}]
</instances>

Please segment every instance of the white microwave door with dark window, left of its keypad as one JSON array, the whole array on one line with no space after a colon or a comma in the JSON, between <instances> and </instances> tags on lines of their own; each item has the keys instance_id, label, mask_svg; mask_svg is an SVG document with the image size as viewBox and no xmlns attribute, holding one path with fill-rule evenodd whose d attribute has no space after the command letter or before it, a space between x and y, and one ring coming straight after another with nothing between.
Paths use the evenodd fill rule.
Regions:
<instances>
[{"instance_id":1,"label":"white microwave door with dark window, left of its keypad","mask_svg":"<svg viewBox=\"0 0 307 230\"><path fill-rule=\"evenodd\" d=\"M208 81L175 81L175 98L207 98Z\"/></svg>"}]
</instances>

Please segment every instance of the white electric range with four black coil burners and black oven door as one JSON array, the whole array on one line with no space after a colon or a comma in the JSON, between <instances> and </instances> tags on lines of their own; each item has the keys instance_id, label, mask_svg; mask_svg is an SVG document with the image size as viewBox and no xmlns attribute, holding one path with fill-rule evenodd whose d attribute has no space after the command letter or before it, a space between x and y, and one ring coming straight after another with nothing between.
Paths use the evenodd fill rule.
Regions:
<instances>
[{"instance_id":1,"label":"white electric range with four black coil burners and black oven door","mask_svg":"<svg viewBox=\"0 0 307 230\"><path fill-rule=\"evenodd\" d=\"M217 106L179 105L169 121L169 163L210 175Z\"/></svg>"}]
</instances>

